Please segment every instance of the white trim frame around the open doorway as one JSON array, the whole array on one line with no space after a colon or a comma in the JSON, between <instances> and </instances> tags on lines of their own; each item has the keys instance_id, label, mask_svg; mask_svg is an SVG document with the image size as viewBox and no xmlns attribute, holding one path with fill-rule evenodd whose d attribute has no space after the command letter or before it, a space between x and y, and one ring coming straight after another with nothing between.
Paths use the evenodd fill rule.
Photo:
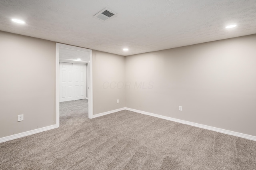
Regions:
<instances>
[{"instance_id":1,"label":"white trim frame around the open doorway","mask_svg":"<svg viewBox=\"0 0 256 170\"><path fill-rule=\"evenodd\" d=\"M60 99L59 99L59 62L60 62L60 56L59 56L59 48L64 47L68 49L75 49L80 51L86 51L90 53L90 59L88 61L88 117L89 119L92 119L92 50L86 49L82 47L75 47L72 45L66 45L62 43L56 43L56 126L60 127Z\"/></svg>"}]
</instances>

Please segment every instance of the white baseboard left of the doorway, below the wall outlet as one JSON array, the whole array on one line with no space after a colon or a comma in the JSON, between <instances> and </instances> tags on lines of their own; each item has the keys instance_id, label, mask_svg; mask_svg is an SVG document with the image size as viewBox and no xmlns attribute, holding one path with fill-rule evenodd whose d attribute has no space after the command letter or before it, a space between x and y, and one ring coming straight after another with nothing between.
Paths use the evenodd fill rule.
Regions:
<instances>
[{"instance_id":1,"label":"white baseboard left of the doorway, below the wall outlet","mask_svg":"<svg viewBox=\"0 0 256 170\"><path fill-rule=\"evenodd\" d=\"M50 130L50 129L54 129L54 128L57 128L57 125L51 125L51 126L48 126L48 127L37 128L37 129L30 130L30 131L27 131L27 132L13 134L11 136L6 136L6 137L3 137L3 138L0 138L0 143L6 142L8 140L13 140L13 139L21 138L21 137L24 137L24 136L28 136L30 134L36 134L36 133L39 133L39 132L44 132L46 130Z\"/></svg>"}]
</instances>

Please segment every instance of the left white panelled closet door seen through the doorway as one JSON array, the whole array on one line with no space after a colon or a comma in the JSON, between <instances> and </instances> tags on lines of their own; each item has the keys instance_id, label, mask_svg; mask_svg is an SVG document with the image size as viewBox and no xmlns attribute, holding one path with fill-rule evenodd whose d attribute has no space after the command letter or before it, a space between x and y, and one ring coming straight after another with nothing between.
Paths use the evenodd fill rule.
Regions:
<instances>
[{"instance_id":1,"label":"left white panelled closet door seen through the doorway","mask_svg":"<svg viewBox=\"0 0 256 170\"><path fill-rule=\"evenodd\" d=\"M60 62L60 102L73 100L73 64Z\"/></svg>"}]
</instances>

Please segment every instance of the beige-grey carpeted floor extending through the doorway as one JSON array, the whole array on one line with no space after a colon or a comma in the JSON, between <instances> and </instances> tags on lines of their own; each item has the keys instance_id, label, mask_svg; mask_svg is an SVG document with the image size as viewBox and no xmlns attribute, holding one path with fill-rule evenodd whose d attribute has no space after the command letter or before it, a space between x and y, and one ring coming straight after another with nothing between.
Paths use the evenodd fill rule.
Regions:
<instances>
[{"instance_id":1,"label":"beige-grey carpeted floor extending through the doorway","mask_svg":"<svg viewBox=\"0 0 256 170\"><path fill-rule=\"evenodd\" d=\"M255 141L131 111L88 119L87 104L62 102L60 128L0 143L0 169L256 170Z\"/></svg>"}]
</instances>

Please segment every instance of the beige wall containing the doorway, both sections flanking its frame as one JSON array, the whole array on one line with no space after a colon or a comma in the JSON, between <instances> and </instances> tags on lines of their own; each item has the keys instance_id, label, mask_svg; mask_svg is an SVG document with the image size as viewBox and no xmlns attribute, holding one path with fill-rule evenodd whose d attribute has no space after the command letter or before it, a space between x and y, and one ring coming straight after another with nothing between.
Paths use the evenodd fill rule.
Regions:
<instances>
[{"instance_id":1,"label":"beige wall containing the doorway, both sections flanking its frame","mask_svg":"<svg viewBox=\"0 0 256 170\"><path fill-rule=\"evenodd\" d=\"M124 82L124 56L92 55L93 115L125 107L124 88L103 87ZM56 124L55 62L56 42L0 31L0 140Z\"/></svg>"}]
</instances>

